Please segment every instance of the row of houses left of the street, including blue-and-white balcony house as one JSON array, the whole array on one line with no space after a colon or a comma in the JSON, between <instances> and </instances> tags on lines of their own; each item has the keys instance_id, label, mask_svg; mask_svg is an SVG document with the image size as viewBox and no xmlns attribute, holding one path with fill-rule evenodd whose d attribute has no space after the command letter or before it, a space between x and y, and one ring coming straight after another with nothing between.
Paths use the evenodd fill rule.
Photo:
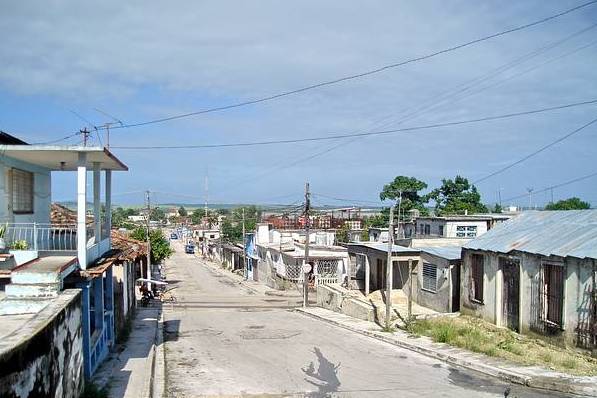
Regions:
<instances>
[{"instance_id":1,"label":"row of houses left of the street, including blue-and-white balcony house","mask_svg":"<svg viewBox=\"0 0 597 398\"><path fill-rule=\"evenodd\" d=\"M135 280L148 274L145 244L113 231L102 211L112 173L128 168L99 147L1 133L0 148L0 396L78 396L135 310ZM52 204L52 175L69 172L74 211Z\"/></svg>"}]
</instances>

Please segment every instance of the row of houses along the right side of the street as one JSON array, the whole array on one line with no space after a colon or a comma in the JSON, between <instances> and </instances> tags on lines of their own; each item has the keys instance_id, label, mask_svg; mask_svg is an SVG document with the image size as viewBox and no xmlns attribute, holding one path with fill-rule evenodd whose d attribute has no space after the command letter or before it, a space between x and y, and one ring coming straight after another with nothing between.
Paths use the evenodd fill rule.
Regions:
<instances>
[{"instance_id":1,"label":"row of houses along the right side of the street","mask_svg":"<svg viewBox=\"0 0 597 398\"><path fill-rule=\"evenodd\" d=\"M597 347L597 210L421 217L402 232L391 246L391 284L417 305ZM333 231L311 233L311 286L339 283L363 296L385 289L388 237L372 231L371 241L338 245ZM222 253L247 278L288 288L303 281L305 241L300 230L260 224L244 252Z\"/></svg>"}]
</instances>

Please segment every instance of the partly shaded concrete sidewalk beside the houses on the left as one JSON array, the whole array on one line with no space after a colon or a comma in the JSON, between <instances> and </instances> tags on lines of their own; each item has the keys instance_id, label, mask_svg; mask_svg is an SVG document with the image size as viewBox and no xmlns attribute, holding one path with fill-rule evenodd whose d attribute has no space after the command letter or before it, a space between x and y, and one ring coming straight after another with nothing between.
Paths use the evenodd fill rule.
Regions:
<instances>
[{"instance_id":1,"label":"partly shaded concrete sidewalk beside the houses on the left","mask_svg":"<svg viewBox=\"0 0 597 398\"><path fill-rule=\"evenodd\" d=\"M93 377L114 398L146 398L152 391L156 336L161 309L138 307L128 340L115 347Z\"/></svg>"}]
</instances>

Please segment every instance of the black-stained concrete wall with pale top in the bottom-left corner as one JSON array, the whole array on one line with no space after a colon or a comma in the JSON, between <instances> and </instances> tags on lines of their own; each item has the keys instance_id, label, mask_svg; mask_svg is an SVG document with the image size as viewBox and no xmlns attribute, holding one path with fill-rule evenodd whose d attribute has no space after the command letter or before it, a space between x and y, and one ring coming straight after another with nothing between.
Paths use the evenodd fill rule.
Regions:
<instances>
[{"instance_id":1,"label":"black-stained concrete wall with pale top in the bottom-left corner","mask_svg":"<svg viewBox=\"0 0 597 398\"><path fill-rule=\"evenodd\" d=\"M78 397L83 389L81 295L65 290L0 342L0 396Z\"/></svg>"}]
</instances>

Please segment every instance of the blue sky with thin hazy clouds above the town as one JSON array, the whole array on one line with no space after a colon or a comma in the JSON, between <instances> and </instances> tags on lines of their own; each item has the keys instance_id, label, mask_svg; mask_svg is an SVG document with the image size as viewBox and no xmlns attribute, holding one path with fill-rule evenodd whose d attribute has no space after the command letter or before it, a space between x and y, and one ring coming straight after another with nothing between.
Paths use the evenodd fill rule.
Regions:
<instances>
[{"instance_id":1,"label":"blue sky with thin hazy clouds above the town","mask_svg":"<svg viewBox=\"0 0 597 398\"><path fill-rule=\"evenodd\" d=\"M134 124L294 90L419 57L582 4L579 1L44 1L0 8L0 130L30 142L86 125ZM129 166L115 203L379 203L398 175L433 189L471 181L597 117L597 105L410 133L182 150L421 126L597 99L597 4L529 29L360 79L260 104L112 130ZM77 116L77 114L79 116ZM85 120L83 120L85 119ZM100 143L101 138L101 143ZM93 142L106 144L106 136ZM61 141L76 144L80 136ZM477 187L528 205L527 189L597 172L597 124ZM54 173L53 200L75 198ZM498 194L499 193L499 194ZM319 196L323 195L323 196ZM522 198L509 198L523 195ZM551 200L551 191L531 197ZM553 190L597 206L597 177ZM338 199L331 199L340 198Z\"/></svg>"}]
</instances>

